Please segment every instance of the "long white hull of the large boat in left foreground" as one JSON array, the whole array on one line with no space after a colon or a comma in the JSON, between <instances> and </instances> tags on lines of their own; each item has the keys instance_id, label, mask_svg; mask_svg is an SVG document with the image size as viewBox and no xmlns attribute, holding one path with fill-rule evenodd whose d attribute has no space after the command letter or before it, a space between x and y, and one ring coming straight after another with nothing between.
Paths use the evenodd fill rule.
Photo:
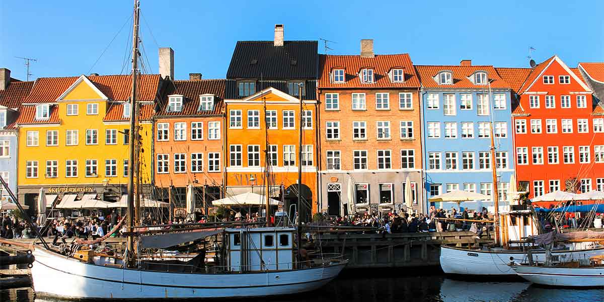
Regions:
<instances>
[{"instance_id":1,"label":"long white hull of the large boat in left foreground","mask_svg":"<svg viewBox=\"0 0 604 302\"><path fill-rule=\"evenodd\" d=\"M295 271L188 274L121 269L83 263L43 248L31 268L37 295L60 298L224 298L312 291L333 280L345 262Z\"/></svg>"}]
</instances>

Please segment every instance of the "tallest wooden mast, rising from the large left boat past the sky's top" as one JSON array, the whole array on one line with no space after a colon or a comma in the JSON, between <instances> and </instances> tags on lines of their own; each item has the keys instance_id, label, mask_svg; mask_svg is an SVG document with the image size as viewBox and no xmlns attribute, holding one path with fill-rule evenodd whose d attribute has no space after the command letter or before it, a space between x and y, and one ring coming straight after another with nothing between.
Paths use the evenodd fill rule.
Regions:
<instances>
[{"instance_id":1,"label":"tallest wooden mast, rising from the large left boat past the sky's top","mask_svg":"<svg viewBox=\"0 0 604 302\"><path fill-rule=\"evenodd\" d=\"M135 266L134 257L134 236L132 232L135 226L134 215L134 172L137 165L137 156L135 154L135 144L138 137L138 119L137 117L137 72L138 72L138 0L134 0L134 22L132 34L132 95L130 95L130 145L129 145L129 165L128 165L128 202L127 202L127 219L126 230L128 233L126 242L127 259L124 259L126 267L133 268Z\"/></svg>"}]
</instances>

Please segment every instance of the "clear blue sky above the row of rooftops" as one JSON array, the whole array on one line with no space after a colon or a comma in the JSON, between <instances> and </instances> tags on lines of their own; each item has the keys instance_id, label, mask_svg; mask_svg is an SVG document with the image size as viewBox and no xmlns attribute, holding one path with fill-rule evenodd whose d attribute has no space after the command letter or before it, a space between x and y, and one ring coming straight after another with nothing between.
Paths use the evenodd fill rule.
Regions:
<instances>
[{"instance_id":1,"label":"clear blue sky above the row of rooftops","mask_svg":"<svg viewBox=\"0 0 604 302\"><path fill-rule=\"evenodd\" d=\"M272 40L274 24L284 24L286 40L335 41L331 54L358 54L359 40L374 39L376 54L409 53L416 64L472 59L475 65L525 67L531 46L537 62L553 54L573 67L604 61L601 0L143 0L141 9L146 70L158 72L157 48L172 47L176 79L188 79L189 72L224 77L236 41ZM0 67L23 80L24 62L16 56L37 59L33 79L127 73L130 22L116 33L131 15L127 0L2 0Z\"/></svg>"}]
</instances>

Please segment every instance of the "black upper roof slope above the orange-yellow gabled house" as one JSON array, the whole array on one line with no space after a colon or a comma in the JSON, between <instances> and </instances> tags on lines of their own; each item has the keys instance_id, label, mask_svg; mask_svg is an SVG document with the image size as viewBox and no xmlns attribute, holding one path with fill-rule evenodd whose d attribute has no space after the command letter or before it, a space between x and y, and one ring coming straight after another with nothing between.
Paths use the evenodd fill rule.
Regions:
<instances>
[{"instance_id":1,"label":"black upper roof slope above the orange-yellow gabled house","mask_svg":"<svg viewBox=\"0 0 604 302\"><path fill-rule=\"evenodd\" d=\"M237 41L226 79L317 79L317 41Z\"/></svg>"}]
</instances>

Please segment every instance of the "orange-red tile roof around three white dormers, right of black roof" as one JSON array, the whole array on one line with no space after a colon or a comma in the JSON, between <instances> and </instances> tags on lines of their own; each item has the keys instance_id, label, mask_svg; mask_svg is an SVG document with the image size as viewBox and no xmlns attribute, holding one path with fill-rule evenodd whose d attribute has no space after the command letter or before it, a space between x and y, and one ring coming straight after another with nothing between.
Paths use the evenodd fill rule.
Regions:
<instances>
[{"instance_id":1,"label":"orange-red tile roof around three white dormers, right of black roof","mask_svg":"<svg viewBox=\"0 0 604 302\"><path fill-rule=\"evenodd\" d=\"M374 83L361 83L361 68L373 68ZM388 77L390 69L400 67L405 72L405 82L393 83ZM345 69L345 83L332 83L333 68ZM319 88L419 88L420 82L409 54L376 54L374 57L334 56L323 54L319 58Z\"/></svg>"}]
</instances>

